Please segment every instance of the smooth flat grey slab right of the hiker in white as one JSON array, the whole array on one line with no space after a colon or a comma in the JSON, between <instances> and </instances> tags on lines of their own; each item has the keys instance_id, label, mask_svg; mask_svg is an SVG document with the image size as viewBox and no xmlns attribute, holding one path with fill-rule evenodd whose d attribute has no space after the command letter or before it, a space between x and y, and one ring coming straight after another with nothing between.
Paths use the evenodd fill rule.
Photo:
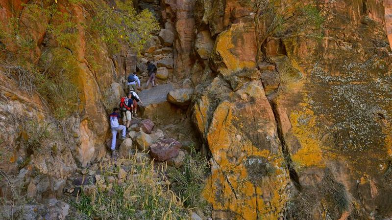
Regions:
<instances>
[{"instance_id":1,"label":"smooth flat grey slab right of the hiker in white","mask_svg":"<svg viewBox=\"0 0 392 220\"><path fill-rule=\"evenodd\" d=\"M153 88L144 89L138 95L145 106L166 102L166 96L173 90L172 84L159 85Z\"/></svg>"}]
</instances>

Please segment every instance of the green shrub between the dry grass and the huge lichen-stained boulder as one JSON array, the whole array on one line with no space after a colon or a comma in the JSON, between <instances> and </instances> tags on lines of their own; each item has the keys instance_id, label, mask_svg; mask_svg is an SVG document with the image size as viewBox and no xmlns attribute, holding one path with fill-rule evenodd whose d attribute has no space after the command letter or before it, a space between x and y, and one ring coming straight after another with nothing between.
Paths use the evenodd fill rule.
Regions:
<instances>
[{"instance_id":1,"label":"green shrub between the dry grass and the huge lichen-stained boulder","mask_svg":"<svg viewBox=\"0 0 392 220\"><path fill-rule=\"evenodd\" d=\"M190 154L185 156L184 165L178 169L169 169L171 190L183 199L187 207L205 206L206 202L201 197L201 192L204 189L208 168L207 159L191 147Z\"/></svg>"}]
</instances>

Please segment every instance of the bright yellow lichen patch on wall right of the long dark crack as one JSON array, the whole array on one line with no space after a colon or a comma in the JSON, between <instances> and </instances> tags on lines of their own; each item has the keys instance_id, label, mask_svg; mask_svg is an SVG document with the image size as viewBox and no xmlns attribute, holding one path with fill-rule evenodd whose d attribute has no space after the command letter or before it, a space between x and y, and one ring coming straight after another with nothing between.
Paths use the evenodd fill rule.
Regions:
<instances>
[{"instance_id":1,"label":"bright yellow lichen patch on wall right of the long dark crack","mask_svg":"<svg viewBox=\"0 0 392 220\"><path fill-rule=\"evenodd\" d=\"M293 111L290 115L292 132L298 139L301 147L292 155L294 163L300 166L324 167L322 151L318 140L318 128L314 112L304 106L304 110ZM303 122L300 122L303 121Z\"/></svg>"}]
</instances>

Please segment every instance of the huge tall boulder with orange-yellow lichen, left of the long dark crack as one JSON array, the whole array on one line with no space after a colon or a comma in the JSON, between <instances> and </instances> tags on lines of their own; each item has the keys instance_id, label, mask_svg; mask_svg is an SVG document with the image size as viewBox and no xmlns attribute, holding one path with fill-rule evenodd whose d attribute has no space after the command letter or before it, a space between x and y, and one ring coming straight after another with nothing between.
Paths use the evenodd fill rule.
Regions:
<instances>
[{"instance_id":1,"label":"huge tall boulder with orange-yellow lichen, left of the long dark crack","mask_svg":"<svg viewBox=\"0 0 392 220\"><path fill-rule=\"evenodd\" d=\"M259 75L221 75L196 91L193 121L213 158L204 196L217 219L278 219L286 207L291 180Z\"/></svg>"}]
</instances>

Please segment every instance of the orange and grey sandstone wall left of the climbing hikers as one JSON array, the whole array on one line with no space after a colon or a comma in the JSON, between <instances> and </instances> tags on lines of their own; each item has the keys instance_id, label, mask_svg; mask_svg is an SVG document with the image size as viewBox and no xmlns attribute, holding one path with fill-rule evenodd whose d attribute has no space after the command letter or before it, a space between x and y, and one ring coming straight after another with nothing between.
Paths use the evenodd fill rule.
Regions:
<instances>
[{"instance_id":1,"label":"orange and grey sandstone wall left of the climbing hikers","mask_svg":"<svg viewBox=\"0 0 392 220\"><path fill-rule=\"evenodd\" d=\"M27 1L0 2L0 22L4 24L1 25L0 31L9 32L5 24L11 22L11 17L19 15L21 36L31 39L35 46L30 54L31 60L34 61L44 51L50 53L51 49L57 48L58 45L50 39L45 28L46 24L53 20L45 19L42 14L27 9L25 3ZM33 197L37 196L38 199L61 196L65 181L75 171L76 166L86 166L104 156L106 139L109 137L107 113L123 95L125 61L134 56L129 54L127 57L124 51L110 54L104 44L101 44L98 50L89 47L80 6L65 5L63 1L59 1L58 10L71 11L73 18L77 20L75 23L78 35L77 39L71 42L72 47L59 48L65 53L72 53L77 64L74 66L75 74L72 79L78 89L77 112L60 123L51 115L48 104L38 93L29 94L23 91L12 74L7 73L6 69L0 71L0 129L3 131L1 169L11 176L19 174L20 182L17 185L36 188L38 192ZM8 51L14 51L16 48L14 42L2 43ZM93 56L88 56L91 54ZM4 56L5 54L1 54L0 59ZM92 62L98 63L100 67L93 68ZM49 124L54 143L43 143L45 152L31 154L21 145L21 131L26 120ZM67 133L68 137L55 137L61 133ZM55 153L51 151L53 146ZM2 187L6 188L7 185ZM5 192L5 188L1 193Z\"/></svg>"}]
</instances>

